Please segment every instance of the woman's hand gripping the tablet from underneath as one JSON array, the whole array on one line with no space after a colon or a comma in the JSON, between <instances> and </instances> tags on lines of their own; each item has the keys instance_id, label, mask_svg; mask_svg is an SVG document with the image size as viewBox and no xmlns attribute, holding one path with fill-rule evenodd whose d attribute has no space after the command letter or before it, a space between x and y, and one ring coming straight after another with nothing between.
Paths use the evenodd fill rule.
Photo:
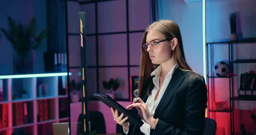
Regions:
<instances>
[{"instance_id":1,"label":"woman's hand gripping the tablet from underneath","mask_svg":"<svg viewBox=\"0 0 256 135\"><path fill-rule=\"evenodd\" d=\"M111 111L112 111L115 122L121 125L124 129L126 129L126 131L129 130L129 122L125 122L128 119L128 117L125 117L124 119L122 119L124 114L121 113L121 115L118 116L118 110L117 109L114 110L114 108L112 107L111 107Z\"/></svg>"}]
</instances>

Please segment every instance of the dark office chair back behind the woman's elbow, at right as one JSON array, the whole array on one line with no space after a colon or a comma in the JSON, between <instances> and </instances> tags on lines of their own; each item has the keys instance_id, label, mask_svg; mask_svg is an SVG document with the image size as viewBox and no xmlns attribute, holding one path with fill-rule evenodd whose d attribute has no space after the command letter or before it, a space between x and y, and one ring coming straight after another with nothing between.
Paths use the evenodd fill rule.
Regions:
<instances>
[{"instance_id":1,"label":"dark office chair back behind the woman's elbow, at right","mask_svg":"<svg viewBox=\"0 0 256 135\"><path fill-rule=\"evenodd\" d=\"M214 119L205 118L203 135L215 135L217 123Z\"/></svg>"}]
</instances>

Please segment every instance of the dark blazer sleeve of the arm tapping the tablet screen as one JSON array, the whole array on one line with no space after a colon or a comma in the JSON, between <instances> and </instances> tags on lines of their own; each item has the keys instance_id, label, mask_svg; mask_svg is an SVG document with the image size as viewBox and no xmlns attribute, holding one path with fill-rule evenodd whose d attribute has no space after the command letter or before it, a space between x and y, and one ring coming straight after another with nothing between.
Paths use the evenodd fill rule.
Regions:
<instances>
[{"instance_id":1,"label":"dark blazer sleeve of the arm tapping the tablet screen","mask_svg":"<svg viewBox=\"0 0 256 135\"><path fill-rule=\"evenodd\" d=\"M153 135L203 135L207 88L203 80L192 79L185 99L184 127L182 129L159 119Z\"/></svg>"}]
</instances>

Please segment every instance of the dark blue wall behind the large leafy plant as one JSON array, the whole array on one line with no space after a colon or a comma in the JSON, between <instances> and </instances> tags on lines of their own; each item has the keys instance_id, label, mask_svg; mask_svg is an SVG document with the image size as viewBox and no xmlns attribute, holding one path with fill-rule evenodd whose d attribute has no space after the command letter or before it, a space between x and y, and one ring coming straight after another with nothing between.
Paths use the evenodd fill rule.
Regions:
<instances>
[{"instance_id":1,"label":"dark blue wall behind the large leafy plant","mask_svg":"<svg viewBox=\"0 0 256 135\"><path fill-rule=\"evenodd\" d=\"M11 16L15 21L19 21L21 24L26 25L29 20L36 16L37 31L41 31L46 28L46 1L42 0L1 0L0 1L0 28L8 28L7 16ZM0 32L1 33L1 32ZM3 33L1 33L3 35ZM46 50L46 40L42 42L43 48L34 53L35 57L33 71L43 72L43 51ZM15 52L11 47L11 43L7 41L3 35L0 38L0 75L14 74L13 73L13 56Z\"/></svg>"}]
</instances>

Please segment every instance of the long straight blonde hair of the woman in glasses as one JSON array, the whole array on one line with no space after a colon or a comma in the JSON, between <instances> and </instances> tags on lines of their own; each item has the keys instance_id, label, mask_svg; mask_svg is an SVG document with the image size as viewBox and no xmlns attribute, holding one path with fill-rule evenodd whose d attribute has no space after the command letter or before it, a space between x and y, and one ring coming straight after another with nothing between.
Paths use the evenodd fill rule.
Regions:
<instances>
[{"instance_id":1,"label":"long straight blonde hair of the woman in glasses","mask_svg":"<svg viewBox=\"0 0 256 135\"><path fill-rule=\"evenodd\" d=\"M160 32L165 36L166 39L177 38L178 43L176 48L174 49L174 60L177 63L177 67L182 71L191 71L194 72L186 62L184 56L184 49L181 39L181 31L177 23L171 20L160 20L152 23L147 27L142 37L141 42L141 58L140 58L140 76L139 76L139 93L138 96L141 97L142 90L144 87L148 87L146 85L146 81L151 76L151 72L154 71L159 64L152 64L149 58L148 52L143 49L142 44L146 43L147 33L151 30L156 32ZM171 50L170 50L171 51Z\"/></svg>"}]
</instances>

